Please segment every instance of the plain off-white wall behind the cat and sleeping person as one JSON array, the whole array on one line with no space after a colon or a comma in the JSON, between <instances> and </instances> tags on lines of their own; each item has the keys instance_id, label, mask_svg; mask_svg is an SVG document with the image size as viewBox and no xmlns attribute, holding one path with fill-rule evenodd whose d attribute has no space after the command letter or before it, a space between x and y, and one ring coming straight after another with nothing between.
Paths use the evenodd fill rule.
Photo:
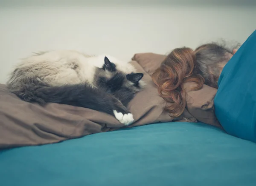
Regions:
<instances>
[{"instance_id":1,"label":"plain off-white wall behind the cat and sleeping person","mask_svg":"<svg viewBox=\"0 0 256 186\"><path fill-rule=\"evenodd\" d=\"M0 0L0 83L32 52L75 49L128 61L138 52L244 40L255 0Z\"/></svg>"}]
</instances>

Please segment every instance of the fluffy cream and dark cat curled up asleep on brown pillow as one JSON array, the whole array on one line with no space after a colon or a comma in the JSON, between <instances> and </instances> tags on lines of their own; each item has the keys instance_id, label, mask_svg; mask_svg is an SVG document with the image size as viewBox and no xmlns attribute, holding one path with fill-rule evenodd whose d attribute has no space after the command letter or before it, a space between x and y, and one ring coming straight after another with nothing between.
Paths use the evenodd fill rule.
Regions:
<instances>
[{"instance_id":1,"label":"fluffy cream and dark cat curled up asleep on brown pillow","mask_svg":"<svg viewBox=\"0 0 256 186\"><path fill-rule=\"evenodd\" d=\"M127 126L134 122L127 106L143 89L142 77L130 63L109 55L55 50L23 59L11 73L7 87L27 102L85 107L111 114Z\"/></svg>"}]
</instances>

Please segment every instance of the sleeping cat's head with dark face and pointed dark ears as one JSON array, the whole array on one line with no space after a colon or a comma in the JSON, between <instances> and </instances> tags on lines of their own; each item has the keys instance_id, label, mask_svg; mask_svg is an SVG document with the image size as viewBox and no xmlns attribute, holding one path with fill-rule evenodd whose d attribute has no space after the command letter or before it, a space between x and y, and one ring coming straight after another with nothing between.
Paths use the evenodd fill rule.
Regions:
<instances>
[{"instance_id":1,"label":"sleeping cat's head with dark face and pointed dark ears","mask_svg":"<svg viewBox=\"0 0 256 186\"><path fill-rule=\"evenodd\" d=\"M104 58L104 65L102 68L97 68L95 74L95 81L97 87L104 88L108 92L114 93L120 89L136 93L139 92L145 83L143 80L143 73L136 73L127 70L131 64L127 64L127 69L118 68L118 64L112 63L108 57ZM134 68L129 68L134 69Z\"/></svg>"}]
</instances>

